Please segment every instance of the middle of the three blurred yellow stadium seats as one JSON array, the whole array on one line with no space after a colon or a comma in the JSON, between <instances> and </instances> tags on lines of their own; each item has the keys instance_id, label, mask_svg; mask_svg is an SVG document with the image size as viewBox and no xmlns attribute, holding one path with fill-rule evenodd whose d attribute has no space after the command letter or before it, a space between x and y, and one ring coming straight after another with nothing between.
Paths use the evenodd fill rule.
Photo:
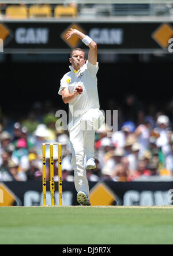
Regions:
<instances>
[{"instance_id":1,"label":"middle of the three blurred yellow stadium seats","mask_svg":"<svg viewBox=\"0 0 173 256\"><path fill-rule=\"evenodd\" d=\"M50 5L32 5L29 8L29 17L52 17L52 9Z\"/></svg>"}]
</instances>

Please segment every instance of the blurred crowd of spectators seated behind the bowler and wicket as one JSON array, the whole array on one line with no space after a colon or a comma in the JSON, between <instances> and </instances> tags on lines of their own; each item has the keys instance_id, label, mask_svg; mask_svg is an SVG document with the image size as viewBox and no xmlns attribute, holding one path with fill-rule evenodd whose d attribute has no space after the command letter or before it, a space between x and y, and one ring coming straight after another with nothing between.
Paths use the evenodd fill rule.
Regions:
<instances>
[{"instance_id":1,"label":"blurred crowd of spectators seated behind the bowler and wicket","mask_svg":"<svg viewBox=\"0 0 173 256\"><path fill-rule=\"evenodd\" d=\"M107 123L96 131L97 168L87 171L89 181L137 181L141 177L147 180L151 176L172 175L173 131L170 117L164 112L145 115L141 105L134 102L134 96L129 96L124 108L118 109L118 131L110 133ZM16 122L1 116L0 181L42 180L43 142L62 143L62 178L73 181L69 134L56 129L57 120L52 109L42 114L39 104L26 118ZM56 147L54 145L55 181L58 180ZM46 159L47 180L50 180L48 147Z\"/></svg>"}]
</instances>

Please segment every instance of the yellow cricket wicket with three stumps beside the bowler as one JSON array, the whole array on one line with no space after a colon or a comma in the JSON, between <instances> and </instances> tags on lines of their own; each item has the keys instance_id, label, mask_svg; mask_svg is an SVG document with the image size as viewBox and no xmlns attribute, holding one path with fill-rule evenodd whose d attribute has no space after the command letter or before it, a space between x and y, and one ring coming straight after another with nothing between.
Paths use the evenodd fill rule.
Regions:
<instances>
[{"instance_id":1,"label":"yellow cricket wicket with three stumps beside the bowler","mask_svg":"<svg viewBox=\"0 0 173 256\"><path fill-rule=\"evenodd\" d=\"M59 206L62 206L62 155L61 155L61 144L58 142L54 143L43 143L43 206L46 206L46 145L50 146L50 192L51 192L51 206L55 206L55 181L54 181L54 152L53 145L58 145L58 192L59 192Z\"/></svg>"}]
</instances>

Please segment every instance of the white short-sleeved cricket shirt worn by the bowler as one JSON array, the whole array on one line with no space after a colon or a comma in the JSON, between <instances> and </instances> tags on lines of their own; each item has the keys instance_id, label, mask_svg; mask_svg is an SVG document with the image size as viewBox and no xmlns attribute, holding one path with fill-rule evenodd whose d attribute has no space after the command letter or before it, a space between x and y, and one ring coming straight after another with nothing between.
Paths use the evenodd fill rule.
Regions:
<instances>
[{"instance_id":1,"label":"white short-sleeved cricket shirt worn by the bowler","mask_svg":"<svg viewBox=\"0 0 173 256\"><path fill-rule=\"evenodd\" d=\"M100 108L96 76L99 64L93 65L86 60L86 63L78 71L74 70L72 66L69 68L70 72L67 72L61 79L58 94L62 95L61 91L64 88L69 89L69 93L72 94L78 85L82 86L83 92L69 103L72 118L70 122L76 122L89 109Z\"/></svg>"}]
</instances>

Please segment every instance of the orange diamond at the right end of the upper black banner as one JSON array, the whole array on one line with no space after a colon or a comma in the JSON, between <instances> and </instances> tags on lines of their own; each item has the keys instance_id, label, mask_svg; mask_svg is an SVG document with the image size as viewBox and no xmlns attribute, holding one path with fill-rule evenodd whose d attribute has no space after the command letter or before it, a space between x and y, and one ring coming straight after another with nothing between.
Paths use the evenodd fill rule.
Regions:
<instances>
[{"instance_id":1,"label":"orange diamond at the right end of the upper black banner","mask_svg":"<svg viewBox=\"0 0 173 256\"><path fill-rule=\"evenodd\" d=\"M168 24L161 24L152 34L152 38L163 48L168 46L168 40L173 36L173 29Z\"/></svg>"}]
</instances>

